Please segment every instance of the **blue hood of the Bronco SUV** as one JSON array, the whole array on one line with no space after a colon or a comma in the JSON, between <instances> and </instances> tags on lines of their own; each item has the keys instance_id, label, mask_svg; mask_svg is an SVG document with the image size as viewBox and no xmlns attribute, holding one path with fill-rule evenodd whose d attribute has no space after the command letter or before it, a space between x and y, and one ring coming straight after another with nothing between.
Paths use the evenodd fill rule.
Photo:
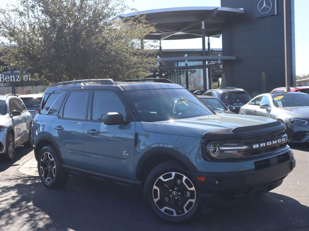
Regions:
<instances>
[{"instance_id":1,"label":"blue hood of the Bronco SUV","mask_svg":"<svg viewBox=\"0 0 309 231\"><path fill-rule=\"evenodd\" d=\"M214 135L213 132L216 131L215 133L220 133L221 135L225 134L227 136L232 136L233 129L239 127L248 127L248 131L250 131L253 135L258 135L259 131L261 130L261 126L259 125L265 124L263 128L266 126L269 127L266 124L275 121L276 120L261 116L220 114L179 120L142 122L142 125L146 132L157 132L179 136L205 137L205 135L211 131L212 135ZM278 124L280 124L280 122L276 123L275 125L277 126ZM283 124L280 125L281 126L279 126L279 128L272 128L272 132L285 128ZM262 131L260 131L260 134L267 133L266 130L264 129L263 131L262 129Z\"/></svg>"}]
</instances>

